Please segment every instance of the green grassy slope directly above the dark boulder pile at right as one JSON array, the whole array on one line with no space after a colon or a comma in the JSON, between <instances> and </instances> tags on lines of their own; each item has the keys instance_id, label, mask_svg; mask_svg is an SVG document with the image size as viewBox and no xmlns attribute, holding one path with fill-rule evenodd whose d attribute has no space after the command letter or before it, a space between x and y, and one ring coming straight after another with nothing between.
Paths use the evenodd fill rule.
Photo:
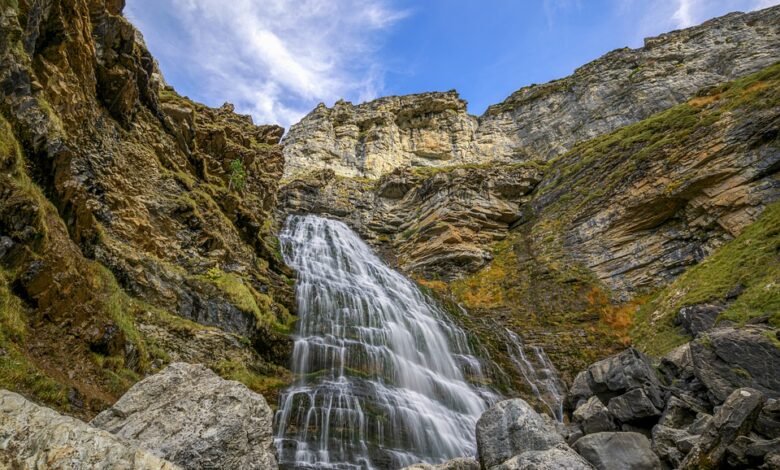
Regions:
<instances>
[{"instance_id":1,"label":"green grassy slope directly above the dark boulder pile at right","mask_svg":"<svg viewBox=\"0 0 780 470\"><path fill-rule=\"evenodd\" d=\"M738 286L744 291L719 320L744 324L751 318L768 315L769 323L780 328L778 252L780 202L767 207L737 238L690 268L643 306L631 331L634 343L660 355L686 342L689 338L673 324L677 312L687 305L724 301Z\"/></svg>"}]
</instances>

